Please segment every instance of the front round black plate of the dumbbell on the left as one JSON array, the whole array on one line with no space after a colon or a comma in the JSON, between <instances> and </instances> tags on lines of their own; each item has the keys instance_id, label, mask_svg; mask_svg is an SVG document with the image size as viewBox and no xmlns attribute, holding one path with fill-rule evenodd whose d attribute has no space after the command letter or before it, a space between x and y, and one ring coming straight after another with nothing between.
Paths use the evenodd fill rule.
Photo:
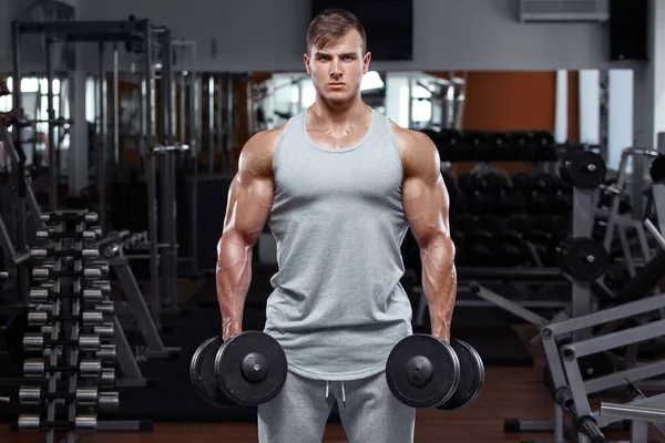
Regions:
<instances>
[{"instance_id":1,"label":"front round black plate of the dumbbell on the left","mask_svg":"<svg viewBox=\"0 0 665 443\"><path fill-rule=\"evenodd\" d=\"M273 400L287 377L286 354L273 337L246 331L228 339L215 357L215 374L222 392L247 406Z\"/></svg>"}]
</instances>

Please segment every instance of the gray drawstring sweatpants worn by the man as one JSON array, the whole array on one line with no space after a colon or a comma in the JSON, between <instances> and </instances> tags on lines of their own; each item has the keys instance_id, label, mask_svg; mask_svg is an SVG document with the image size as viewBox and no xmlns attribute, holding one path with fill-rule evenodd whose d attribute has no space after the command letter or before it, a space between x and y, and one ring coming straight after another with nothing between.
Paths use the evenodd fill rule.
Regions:
<instances>
[{"instance_id":1,"label":"gray drawstring sweatpants worn by the man","mask_svg":"<svg viewBox=\"0 0 665 443\"><path fill-rule=\"evenodd\" d=\"M289 371L282 392L258 406L259 443L320 443L335 401L349 443L413 442L416 410L392 395L383 372L327 382Z\"/></svg>"}]
</instances>

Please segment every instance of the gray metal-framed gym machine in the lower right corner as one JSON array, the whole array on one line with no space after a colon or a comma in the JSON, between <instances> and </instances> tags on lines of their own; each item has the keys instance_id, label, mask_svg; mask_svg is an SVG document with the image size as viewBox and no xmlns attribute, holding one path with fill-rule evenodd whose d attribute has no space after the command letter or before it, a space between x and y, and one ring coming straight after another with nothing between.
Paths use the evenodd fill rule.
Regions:
<instances>
[{"instance_id":1,"label":"gray metal-framed gym machine in the lower right corner","mask_svg":"<svg viewBox=\"0 0 665 443\"><path fill-rule=\"evenodd\" d=\"M662 177L652 174L656 186ZM656 206L658 203L654 202ZM662 202L659 202L662 205ZM648 223L647 223L648 222ZM645 225L654 226L648 219ZM649 229L651 230L651 229ZM653 228L654 237L662 238ZM633 400L631 405L655 404L662 402L663 395L646 398L643 392L663 392L663 381L654 380L665 374L665 360L637 362L637 350L641 343L657 340L662 337L665 320L661 315L648 316L648 312L662 312L665 308L665 296L649 297L654 288L662 281L665 272L665 250L661 250L640 269L627 286L612 300L600 300L601 310L567 320L550 321L543 324L540 339L545 350L550 382L555 399L554 422L520 422L508 420L505 432L554 431L554 441L563 442L563 411L567 410L575 416L579 427L576 432L586 435L592 442L604 441L601 429L610 426L616 420L605 420L591 411L589 396L597 395L615 388L626 385L641 398ZM641 319L631 322L631 319ZM622 328L623 327L623 328ZM618 330L622 328L621 330ZM575 332L593 330L594 336L575 338ZM572 341L567 339L573 337ZM565 340L565 341L564 341ZM563 342L563 344L562 344ZM567 343L567 344L566 344ZM625 347L623 358L616 350ZM615 350L614 352L607 352ZM607 362L610 368L589 368L584 359ZM605 364L605 363L603 363ZM584 424L586 423L586 424ZM663 427L659 427L663 433ZM632 423L632 442L645 442L645 426ZM664 434L665 435L665 434Z\"/></svg>"}]
</instances>

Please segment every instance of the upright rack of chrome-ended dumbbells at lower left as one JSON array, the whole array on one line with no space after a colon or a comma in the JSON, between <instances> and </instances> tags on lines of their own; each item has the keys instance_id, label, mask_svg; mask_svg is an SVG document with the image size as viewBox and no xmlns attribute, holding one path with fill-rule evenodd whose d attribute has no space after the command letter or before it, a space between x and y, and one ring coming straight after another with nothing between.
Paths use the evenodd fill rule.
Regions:
<instances>
[{"instance_id":1,"label":"upright rack of chrome-ended dumbbells at lower left","mask_svg":"<svg viewBox=\"0 0 665 443\"><path fill-rule=\"evenodd\" d=\"M23 363L25 383L20 388L21 408L35 408L19 415L19 430L47 431L53 442L55 432L64 432L73 443L76 432L98 429L98 413L117 409L117 392L100 388L115 382L115 346L105 343L114 324L104 322L104 271L99 262L94 213L57 212L42 216L47 229L38 233L44 246L33 249L32 277L39 286L31 289L29 323L40 332L23 338L27 351L40 351L41 358ZM44 254L47 251L47 254ZM47 296L48 302L43 302ZM112 367L106 368L111 363ZM30 383L32 381L32 383Z\"/></svg>"}]
</instances>

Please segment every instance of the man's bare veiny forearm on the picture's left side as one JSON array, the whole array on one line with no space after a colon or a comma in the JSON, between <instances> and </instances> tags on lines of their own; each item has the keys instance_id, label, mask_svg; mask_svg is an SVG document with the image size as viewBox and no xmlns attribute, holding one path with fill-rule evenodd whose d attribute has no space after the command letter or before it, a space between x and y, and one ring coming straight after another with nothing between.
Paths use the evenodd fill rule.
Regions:
<instances>
[{"instance_id":1,"label":"man's bare veiny forearm on the picture's left side","mask_svg":"<svg viewBox=\"0 0 665 443\"><path fill-rule=\"evenodd\" d=\"M239 235L225 234L217 248L217 301L224 339L243 330L245 299L252 281L252 246Z\"/></svg>"}]
</instances>

